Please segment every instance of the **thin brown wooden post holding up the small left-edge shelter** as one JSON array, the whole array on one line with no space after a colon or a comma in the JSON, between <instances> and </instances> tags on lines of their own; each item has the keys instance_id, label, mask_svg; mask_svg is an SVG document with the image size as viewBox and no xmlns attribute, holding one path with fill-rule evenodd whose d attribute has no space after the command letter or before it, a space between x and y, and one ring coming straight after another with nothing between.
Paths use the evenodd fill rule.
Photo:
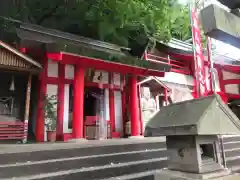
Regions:
<instances>
[{"instance_id":1,"label":"thin brown wooden post holding up the small left-edge shelter","mask_svg":"<svg viewBox=\"0 0 240 180\"><path fill-rule=\"evenodd\" d=\"M27 141L28 135L28 121L29 121L29 110L30 110L30 100L31 100L31 89L32 89L32 74L28 76L27 90L26 90L26 100L25 100L25 115L24 115L24 139Z\"/></svg>"}]
</instances>

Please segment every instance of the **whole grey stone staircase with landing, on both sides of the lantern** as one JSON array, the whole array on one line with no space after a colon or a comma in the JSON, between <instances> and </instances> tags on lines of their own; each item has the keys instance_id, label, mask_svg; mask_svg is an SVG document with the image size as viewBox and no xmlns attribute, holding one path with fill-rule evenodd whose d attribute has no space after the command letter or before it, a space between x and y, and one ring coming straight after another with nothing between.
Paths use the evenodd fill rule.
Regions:
<instances>
[{"instance_id":1,"label":"whole grey stone staircase with landing, on both sides of the lantern","mask_svg":"<svg viewBox=\"0 0 240 180\"><path fill-rule=\"evenodd\" d=\"M227 167L240 172L240 137L223 142ZM153 180L166 166L161 137L0 145L0 180Z\"/></svg>"}]
</instances>

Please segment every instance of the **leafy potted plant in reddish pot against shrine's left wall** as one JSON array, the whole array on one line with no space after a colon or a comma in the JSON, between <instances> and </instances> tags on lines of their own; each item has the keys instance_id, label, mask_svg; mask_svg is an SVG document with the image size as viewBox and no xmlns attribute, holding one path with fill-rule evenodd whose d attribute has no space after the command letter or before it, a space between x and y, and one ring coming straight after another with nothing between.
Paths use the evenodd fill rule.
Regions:
<instances>
[{"instance_id":1,"label":"leafy potted plant in reddish pot against shrine's left wall","mask_svg":"<svg viewBox=\"0 0 240 180\"><path fill-rule=\"evenodd\" d=\"M57 98L55 95L45 97L45 126L47 128L47 140L56 141L57 124Z\"/></svg>"}]
</instances>

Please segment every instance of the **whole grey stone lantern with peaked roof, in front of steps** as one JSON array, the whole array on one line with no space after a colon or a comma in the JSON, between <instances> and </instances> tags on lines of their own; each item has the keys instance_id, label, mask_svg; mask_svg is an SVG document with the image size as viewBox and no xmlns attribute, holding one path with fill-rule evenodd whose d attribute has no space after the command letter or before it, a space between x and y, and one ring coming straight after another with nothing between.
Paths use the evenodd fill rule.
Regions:
<instances>
[{"instance_id":1,"label":"whole grey stone lantern with peaked roof, in front of steps","mask_svg":"<svg viewBox=\"0 0 240 180\"><path fill-rule=\"evenodd\" d=\"M163 107L145 133L166 136L168 168L155 180L240 179L222 165L218 138L240 134L240 121L218 95Z\"/></svg>"}]
</instances>

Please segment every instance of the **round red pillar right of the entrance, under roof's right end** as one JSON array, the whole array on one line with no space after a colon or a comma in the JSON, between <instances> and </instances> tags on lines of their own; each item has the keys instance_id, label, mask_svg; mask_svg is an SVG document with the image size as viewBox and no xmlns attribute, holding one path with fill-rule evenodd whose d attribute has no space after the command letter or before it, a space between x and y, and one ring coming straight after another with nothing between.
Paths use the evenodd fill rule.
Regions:
<instances>
[{"instance_id":1,"label":"round red pillar right of the entrance, under roof's right end","mask_svg":"<svg viewBox=\"0 0 240 180\"><path fill-rule=\"evenodd\" d=\"M130 86L130 119L131 119L131 136L139 136L139 101L138 101L138 87L137 87L137 77L129 77Z\"/></svg>"}]
</instances>

